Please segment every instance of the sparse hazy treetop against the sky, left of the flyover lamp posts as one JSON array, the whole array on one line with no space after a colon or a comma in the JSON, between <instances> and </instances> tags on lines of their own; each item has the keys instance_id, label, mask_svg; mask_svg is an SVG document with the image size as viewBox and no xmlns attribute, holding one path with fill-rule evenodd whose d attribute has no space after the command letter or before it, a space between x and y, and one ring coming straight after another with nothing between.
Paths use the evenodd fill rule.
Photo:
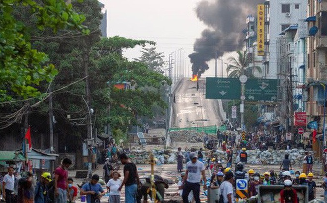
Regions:
<instances>
[{"instance_id":1,"label":"sparse hazy treetop against the sky, left of the flyover lamp posts","mask_svg":"<svg viewBox=\"0 0 327 203\"><path fill-rule=\"evenodd\" d=\"M165 62L163 61L163 53L158 53L156 47L145 48L140 50L142 53L140 58L135 58L135 61L145 63L150 70L154 70L158 73L164 73L163 66Z\"/></svg>"}]
</instances>

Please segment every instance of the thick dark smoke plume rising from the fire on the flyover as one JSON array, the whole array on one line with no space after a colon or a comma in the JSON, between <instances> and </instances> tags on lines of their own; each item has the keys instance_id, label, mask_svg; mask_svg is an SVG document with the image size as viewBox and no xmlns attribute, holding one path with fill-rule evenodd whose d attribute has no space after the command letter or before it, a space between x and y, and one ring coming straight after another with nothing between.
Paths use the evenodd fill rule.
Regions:
<instances>
[{"instance_id":1,"label":"thick dark smoke plume rising from the fire on the flyover","mask_svg":"<svg viewBox=\"0 0 327 203\"><path fill-rule=\"evenodd\" d=\"M257 5L264 0L207 0L201 1L195 9L197 17L208 26L196 39L191 59L193 75L201 76L209 66L206 62L226 52L241 50L244 46L246 18L256 16Z\"/></svg>"}]
</instances>

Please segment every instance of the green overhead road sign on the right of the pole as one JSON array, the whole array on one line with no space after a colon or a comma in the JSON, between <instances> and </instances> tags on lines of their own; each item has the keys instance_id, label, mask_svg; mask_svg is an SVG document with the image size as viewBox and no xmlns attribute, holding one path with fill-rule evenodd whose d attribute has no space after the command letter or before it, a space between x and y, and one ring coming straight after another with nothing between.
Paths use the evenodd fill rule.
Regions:
<instances>
[{"instance_id":1,"label":"green overhead road sign on the right of the pole","mask_svg":"<svg viewBox=\"0 0 327 203\"><path fill-rule=\"evenodd\" d=\"M275 101L277 84L276 79L248 79L245 83L245 99L247 101Z\"/></svg>"}]
</instances>

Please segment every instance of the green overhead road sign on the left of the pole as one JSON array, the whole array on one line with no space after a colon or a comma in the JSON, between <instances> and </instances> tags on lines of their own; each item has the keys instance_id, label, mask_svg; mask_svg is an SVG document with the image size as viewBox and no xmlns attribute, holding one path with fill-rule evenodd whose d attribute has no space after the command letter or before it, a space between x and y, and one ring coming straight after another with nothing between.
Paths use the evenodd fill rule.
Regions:
<instances>
[{"instance_id":1,"label":"green overhead road sign on the left of the pole","mask_svg":"<svg viewBox=\"0 0 327 203\"><path fill-rule=\"evenodd\" d=\"M206 78L206 99L237 100L240 97L238 78Z\"/></svg>"}]
</instances>

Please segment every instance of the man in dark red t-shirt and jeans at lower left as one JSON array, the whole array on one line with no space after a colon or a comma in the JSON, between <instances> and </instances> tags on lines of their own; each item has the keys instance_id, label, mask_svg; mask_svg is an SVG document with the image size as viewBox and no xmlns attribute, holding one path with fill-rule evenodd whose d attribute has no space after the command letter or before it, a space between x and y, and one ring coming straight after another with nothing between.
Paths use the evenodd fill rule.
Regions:
<instances>
[{"instance_id":1,"label":"man in dark red t-shirt and jeans at lower left","mask_svg":"<svg viewBox=\"0 0 327 203\"><path fill-rule=\"evenodd\" d=\"M55 203L66 203L68 194L68 171L67 169L72 164L69 158L62 160L61 165L54 170L54 201Z\"/></svg>"}]
</instances>

